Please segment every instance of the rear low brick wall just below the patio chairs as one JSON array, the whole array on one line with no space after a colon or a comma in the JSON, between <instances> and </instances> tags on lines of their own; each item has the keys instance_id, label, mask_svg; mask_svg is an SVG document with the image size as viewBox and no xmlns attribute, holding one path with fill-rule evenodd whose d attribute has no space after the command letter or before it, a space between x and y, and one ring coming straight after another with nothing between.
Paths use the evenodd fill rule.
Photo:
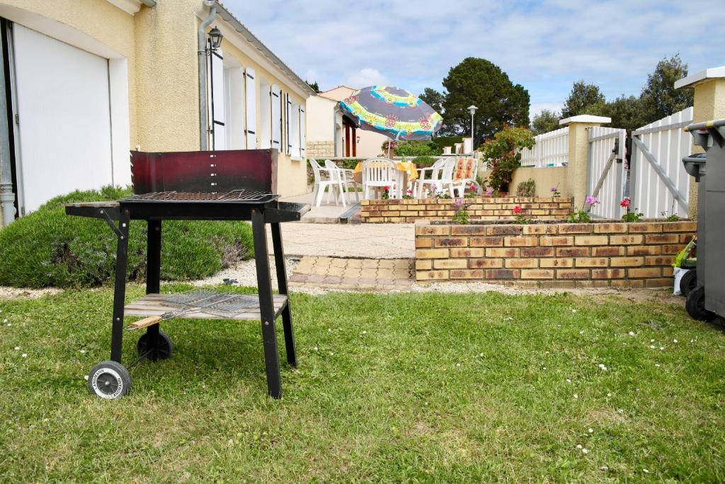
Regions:
<instances>
[{"instance_id":1,"label":"rear low brick wall just below the patio chairs","mask_svg":"<svg viewBox=\"0 0 725 484\"><path fill-rule=\"evenodd\" d=\"M466 198L471 220L502 220L513 218L513 208L521 207L521 215L532 220L564 220L573 210L568 197L481 197ZM363 223L415 222L418 220L450 220L455 215L455 200L363 200L360 202Z\"/></svg>"}]
</instances>

